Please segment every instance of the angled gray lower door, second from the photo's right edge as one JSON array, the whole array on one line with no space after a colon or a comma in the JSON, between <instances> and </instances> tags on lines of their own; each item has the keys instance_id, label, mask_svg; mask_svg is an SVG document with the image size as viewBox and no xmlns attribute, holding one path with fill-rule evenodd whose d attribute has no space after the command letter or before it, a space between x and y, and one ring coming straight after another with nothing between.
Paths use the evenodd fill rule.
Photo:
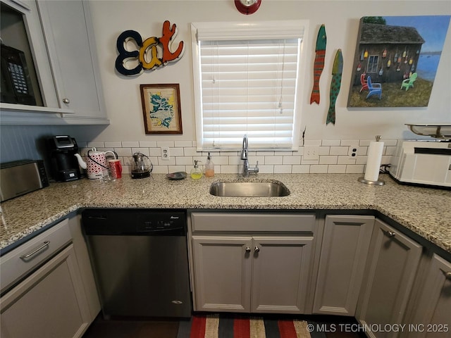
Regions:
<instances>
[{"instance_id":1,"label":"angled gray lower door, second from the photo's right edge","mask_svg":"<svg viewBox=\"0 0 451 338\"><path fill-rule=\"evenodd\" d=\"M402 324L419 265L421 246L376 220L357 319L363 325ZM397 332L366 332L370 337L396 337Z\"/></svg>"}]
</instances>

